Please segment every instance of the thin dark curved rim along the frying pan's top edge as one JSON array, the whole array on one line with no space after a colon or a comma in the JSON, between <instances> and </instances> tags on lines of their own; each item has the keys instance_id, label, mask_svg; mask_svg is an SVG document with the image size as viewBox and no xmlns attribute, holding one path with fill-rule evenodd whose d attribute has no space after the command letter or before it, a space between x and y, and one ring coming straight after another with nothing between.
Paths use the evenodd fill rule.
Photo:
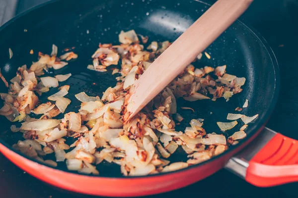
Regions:
<instances>
[{"instance_id":1,"label":"thin dark curved rim along the frying pan's top edge","mask_svg":"<svg viewBox=\"0 0 298 198\"><path fill-rule=\"evenodd\" d=\"M1 27L0 27L0 32L3 31L7 26L13 24L14 21L20 19L22 16L24 15L27 15L29 14L30 12L34 11L34 10L37 10L41 7L44 7L44 6L47 6L49 4L52 4L52 3L55 3L55 2L58 2L58 1L61 1L61 0L50 0L50 1L47 1L47 2L44 2L44 3L41 3L37 6L34 6L34 7L31 7L29 8L28 10L16 15L15 17L13 17L12 19L10 19L9 21L7 21L6 23L4 23ZM211 6L212 5L212 1L211 0L193 0L193 1L196 1L198 3L203 3L207 6ZM206 2L208 1L208 2ZM212 157L211 159L207 160L207 161L203 161L199 164L194 164L194 165L191 165L191 166L188 166L186 168L183 168L183 169L179 169L179 170L175 170L175 171L171 171L171 172L164 172L164 173L158 173L158 174L153 174L153 175L145 175L145 176L118 176L118 177L109 177L109 176L96 176L96 175L87 175L87 174L83 174L83 173L78 173L78 172L71 172L71 171L65 171L65 170L60 170L60 169L57 169L57 168L53 168L43 162L40 162L38 160L35 160L35 159L32 159L26 155L24 155L23 153L21 153L20 151L12 148L11 146L9 146L7 143L5 143L3 140L0 139L0 144L3 145L4 147L8 148L9 150L12 150L13 152L15 152L16 154L22 156L22 157L25 157L26 159L32 161L32 162L36 162L40 165L43 165L47 168L50 168L54 171L59 171L59 172L64 172L64 173L67 173L67 174L74 174L76 176L84 176L84 177L92 177L92 178L97 178L97 179L101 179L101 178L104 178L104 179L119 179L119 180L131 180L131 179L145 179L145 178L152 178L152 177L162 177L162 176L165 176L165 175L170 175L170 174L175 174L175 173L180 173L182 171L187 171L187 170L190 170L190 169L194 169L194 168L199 168L200 166L204 166L206 165L207 163L209 162L212 162L213 160L218 160L219 158L222 158L224 155L226 155L227 153L229 152L232 152L236 149L239 149L241 146L247 144L247 142L249 142L252 138L254 138L253 136L256 136L256 134L260 131L261 128L263 128L267 121L269 120L270 118L270 115L272 114L275 106L276 106L276 103L277 103L277 100L278 100L278 95L279 95L279 91L280 91L280 71L279 71L279 65L278 65L278 61L276 59L276 56L273 52L273 50L271 49L271 47L269 46L269 44L267 43L267 41L262 37L262 35L256 31L254 28L252 27L248 27L247 25L245 25L243 22L241 22L240 20L236 20L235 23L239 23L241 26L243 26L244 28L247 29L247 32L250 32L256 40L258 40L258 42L260 42L260 44L262 44L262 46L264 47L264 49L266 49L266 52L267 54L269 55L270 59L271 59L271 62L272 62L272 65L273 65L273 71L274 71L274 76L275 76L275 84L274 84L274 93L272 94L272 101L270 102L270 105L269 107L267 108L265 114L264 114L264 122L260 122L258 125L256 125L254 127L254 129L247 135L247 137L244 139L244 141L241 141L239 142L239 144L237 144L236 146L233 146L232 148L228 148L227 150L225 150L223 153L217 155L217 156L214 156Z\"/></svg>"}]
</instances>

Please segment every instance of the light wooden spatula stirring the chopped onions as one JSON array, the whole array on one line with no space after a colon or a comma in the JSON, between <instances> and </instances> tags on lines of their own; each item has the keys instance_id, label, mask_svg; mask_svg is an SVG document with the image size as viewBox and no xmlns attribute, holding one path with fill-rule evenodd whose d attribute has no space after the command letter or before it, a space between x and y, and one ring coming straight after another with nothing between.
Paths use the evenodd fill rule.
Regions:
<instances>
[{"instance_id":1,"label":"light wooden spatula stirring the chopped onions","mask_svg":"<svg viewBox=\"0 0 298 198\"><path fill-rule=\"evenodd\" d=\"M218 0L149 66L129 100L129 119L215 41L253 0Z\"/></svg>"}]
</instances>

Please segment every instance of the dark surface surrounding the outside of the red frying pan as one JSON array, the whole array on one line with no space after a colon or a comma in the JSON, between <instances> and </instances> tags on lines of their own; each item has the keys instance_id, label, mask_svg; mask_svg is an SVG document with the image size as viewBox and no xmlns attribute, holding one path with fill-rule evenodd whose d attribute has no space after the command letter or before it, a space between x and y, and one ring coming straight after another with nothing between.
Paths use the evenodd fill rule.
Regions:
<instances>
[{"instance_id":1,"label":"dark surface surrounding the outside of the red frying pan","mask_svg":"<svg viewBox=\"0 0 298 198\"><path fill-rule=\"evenodd\" d=\"M8 3L5 3L5 1ZM45 1L47 0L19 0L13 6L10 0L0 0L0 6L9 5L11 10L5 9L6 16L9 17L13 13L21 13ZM275 52L280 65L281 91L279 101L267 127L298 139L298 0L255 0L241 17L241 21L255 28L263 35ZM115 190L117 190L117 187L115 187ZM187 195L232 198L296 198L298 197L298 183L273 188L257 188L226 170L221 170L189 187L154 197L181 197ZM54 189L24 173L0 155L0 198L19 197L87 198L88 196Z\"/></svg>"}]
</instances>

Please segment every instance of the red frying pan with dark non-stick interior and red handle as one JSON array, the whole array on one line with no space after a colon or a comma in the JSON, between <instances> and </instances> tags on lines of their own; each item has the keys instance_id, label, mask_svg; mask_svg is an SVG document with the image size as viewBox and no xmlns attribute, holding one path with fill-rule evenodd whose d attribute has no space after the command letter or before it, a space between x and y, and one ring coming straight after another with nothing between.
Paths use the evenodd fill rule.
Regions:
<instances>
[{"instance_id":1,"label":"red frying pan with dark non-stick interior and red handle","mask_svg":"<svg viewBox=\"0 0 298 198\"><path fill-rule=\"evenodd\" d=\"M209 6L208 2L195 0L53 0L11 19L0 28L0 68L4 77L11 79L17 67L36 61L38 51L50 53L52 44L55 44L61 54L62 49L74 47L79 56L77 60L60 70L50 71L48 75L72 73L72 77L60 85L71 85L68 98L72 103L67 111L77 111L80 102L74 94L84 91L90 96L101 97L107 87L116 83L111 68L106 73L86 69L99 43L116 44L120 31L130 29L149 36L148 43L174 41ZM11 59L8 48L13 51ZM29 53L31 49L34 50L32 55ZM195 66L226 64L227 73L245 77L246 84L243 91L228 102L224 99L216 102L178 101L179 106L191 107L195 112L178 109L185 120L177 130L184 129L192 118L204 118L204 128L208 133L220 133L216 122L226 121L227 113L242 106L245 99L249 100L249 106L241 113L248 116L259 114L258 119L249 125L244 140L208 161L170 173L138 177L121 176L119 166L103 162L97 167L99 176L83 175L68 171L64 163L51 168L14 150L11 145L21 139L21 134L9 132L12 123L4 117L0 117L0 151L44 182L98 196L145 196L171 191L202 180L223 167L262 187L297 181L298 144L264 129L279 92L278 64L266 41L236 21L206 51L212 58L204 57ZM0 86L0 92L7 92L4 85ZM55 92L51 90L40 100L45 101ZM224 135L232 135L239 127ZM178 150L170 160L185 160L182 153Z\"/></svg>"}]
</instances>

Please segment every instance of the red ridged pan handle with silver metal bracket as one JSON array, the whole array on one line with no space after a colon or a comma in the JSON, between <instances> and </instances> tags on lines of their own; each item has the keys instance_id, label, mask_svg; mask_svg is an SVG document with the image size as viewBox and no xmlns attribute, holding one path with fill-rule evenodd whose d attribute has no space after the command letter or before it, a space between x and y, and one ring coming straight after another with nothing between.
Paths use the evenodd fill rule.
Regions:
<instances>
[{"instance_id":1,"label":"red ridged pan handle with silver metal bracket","mask_svg":"<svg viewBox=\"0 0 298 198\"><path fill-rule=\"evenodd\" d=\"M261 133L262 137L257 137L244 152L230 159L246 166L246 170L242 167L242 175L235 170L239 167L231 168L230 161L226 167L259 187L298 182L298 141L267 128Z\"/></svg>"}]
</instances>

